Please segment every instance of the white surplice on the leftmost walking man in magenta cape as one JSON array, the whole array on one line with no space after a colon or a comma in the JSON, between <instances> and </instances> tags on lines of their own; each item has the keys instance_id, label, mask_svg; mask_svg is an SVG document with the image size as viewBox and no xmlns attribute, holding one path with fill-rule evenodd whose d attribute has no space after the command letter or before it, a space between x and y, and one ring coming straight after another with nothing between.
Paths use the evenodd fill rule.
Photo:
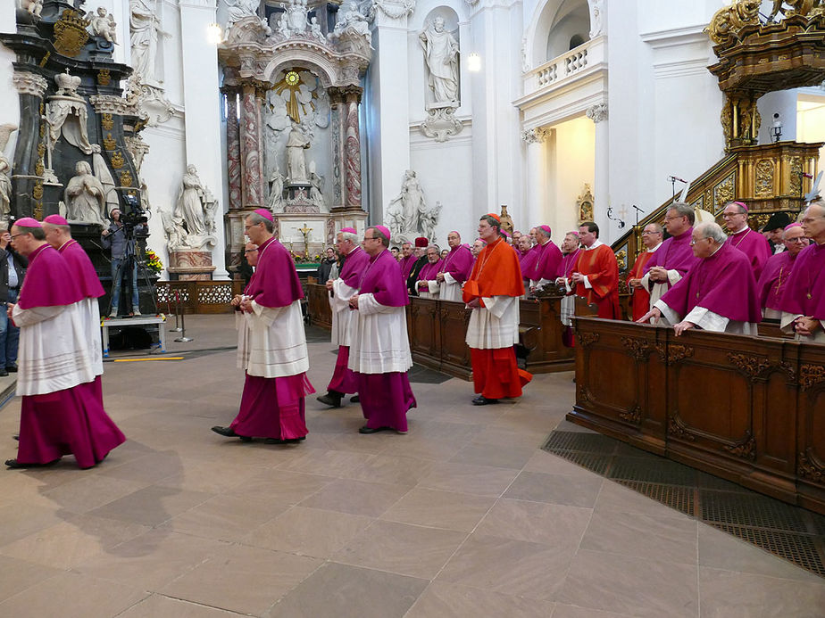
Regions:
<instances>
[{"instance_id":1,"label":"white surplice on the leftmost walking man in magenta cape","mask_svg":"<svg viewBox=\"0 0 825 618\"><path fill-rule=\"evenodd\" d=\"M84 301L55 307L21 309L14 305L14 324L20 326L17 364L18 395L43 395L91 382L103 373L100 317L94 332L96 348L88 333L88 309Z\"/></svg>"}]
</instances>

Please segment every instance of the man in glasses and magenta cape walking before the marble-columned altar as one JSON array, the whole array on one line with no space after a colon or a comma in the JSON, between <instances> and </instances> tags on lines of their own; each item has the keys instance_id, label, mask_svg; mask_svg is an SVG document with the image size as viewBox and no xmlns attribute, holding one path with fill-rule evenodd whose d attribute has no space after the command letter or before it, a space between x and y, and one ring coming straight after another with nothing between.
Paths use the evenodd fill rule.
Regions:
<instances>
[{"instance_id":1,"label":"man in glasses and magenta cape walking before the marble-columned altar","mask_svg":"<svg viewBox=\"0 0 825 618\"><path fill-rule=\"evenodd\" d=\"M307 434L304 398L315 391L306 377L304 292L295 260L272 235L271 212L258 209L247 215L244 229L258 245L258 265L239 305L239 328L246 335L238 335L237 366L246 371L246 382L235 420L212 431L245 441L301 441Z\"/></svg>"}]
</instances>

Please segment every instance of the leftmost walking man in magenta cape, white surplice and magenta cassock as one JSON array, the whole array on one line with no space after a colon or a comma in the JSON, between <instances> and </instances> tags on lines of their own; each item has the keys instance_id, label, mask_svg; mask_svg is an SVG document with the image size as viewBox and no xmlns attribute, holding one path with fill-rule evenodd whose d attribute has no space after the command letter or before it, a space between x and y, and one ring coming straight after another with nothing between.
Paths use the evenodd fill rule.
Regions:
<instances>
[{"instance_id":1,"label":"leftmost walking man in magenta cape, white surplice and magenta cassock","mask_svg":"<svg viewBox=\"0 0 825 618\"><path fill-rule=\"evenodd\" d=\"M97 394L94 358L100 350L89 349L84 293L66 260L46 242L40 222L18 219L12 244L29 258L29 270L19 301L9 309L21 329L22 405L17 457L5 464L37 466L71 453L81 468L96 466L126 438Z\"/></svg>"}]
</instances>

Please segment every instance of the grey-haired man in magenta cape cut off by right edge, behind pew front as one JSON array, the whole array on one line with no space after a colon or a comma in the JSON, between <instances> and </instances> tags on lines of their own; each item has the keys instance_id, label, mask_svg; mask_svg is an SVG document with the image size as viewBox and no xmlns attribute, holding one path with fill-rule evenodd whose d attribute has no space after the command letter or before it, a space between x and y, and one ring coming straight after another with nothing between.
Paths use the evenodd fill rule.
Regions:
<instances>
[{"instance_id":1,"label":"grey-haired man in magenta cape cut off by right edge, behind pew front","mask_svg":"<svg viewBox=\"0 0 825 618\"><path fill-rule=\"evenodd\" d=\"M812 202L800 222L812 243L800 251L787 278L780 327L799 341L825 343L825 202Z\"/></svg>"}]
</instances>

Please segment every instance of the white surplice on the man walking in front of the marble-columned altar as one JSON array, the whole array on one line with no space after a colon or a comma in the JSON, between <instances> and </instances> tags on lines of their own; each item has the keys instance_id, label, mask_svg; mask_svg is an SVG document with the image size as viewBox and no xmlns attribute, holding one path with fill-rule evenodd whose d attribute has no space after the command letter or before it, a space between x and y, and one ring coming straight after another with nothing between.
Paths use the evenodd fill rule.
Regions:
<instances>
[{"instance_id":1,"label":"white surplice on the man walking in front of the marble-columned altar","mask_svg":"<svg viewBox=\"0 0 825 618\"><path fill-rule=\"evenodd\" d=\"M236 317L237 367L259 377L287 377L309 369L301 301L286 307L263 307Z\"/></svg>"}]
</instances>

